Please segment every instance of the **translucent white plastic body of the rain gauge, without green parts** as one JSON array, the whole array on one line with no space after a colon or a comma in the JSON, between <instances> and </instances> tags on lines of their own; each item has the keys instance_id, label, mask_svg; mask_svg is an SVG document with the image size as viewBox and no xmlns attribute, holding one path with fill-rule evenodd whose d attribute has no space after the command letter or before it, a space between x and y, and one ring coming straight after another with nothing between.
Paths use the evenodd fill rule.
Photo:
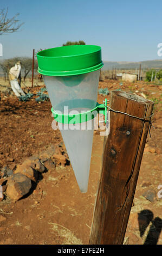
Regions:
<instances>
[{"instance_id":1,"label":"translucent white plastic body of the rain gauge, without green parts","mask_svg":"<svg viewBox=\"0 0 162 256\"><path fill-rule=\"evenodd\" d=\"M54 111L88 111L96 106L100 70L74 76L46 76L44 82ZM81 192L87 192L90 159L93 144L93 120L82 124L58 124L66 145L77 184ZM84 129L82 128L84 127ZM91 127L87 129L87 127ZM76 129L75 129L76 128Z\"/></svg>"}]
</instances>

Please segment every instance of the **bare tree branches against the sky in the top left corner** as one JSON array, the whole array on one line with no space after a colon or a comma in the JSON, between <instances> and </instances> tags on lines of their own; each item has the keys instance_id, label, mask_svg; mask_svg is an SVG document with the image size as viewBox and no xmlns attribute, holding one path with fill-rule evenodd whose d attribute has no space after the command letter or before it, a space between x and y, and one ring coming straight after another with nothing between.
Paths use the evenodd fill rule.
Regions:
<instances>
[{"instance_id":1,"label":"bare tree branches against the sky in the top left corner","mask_svg":"<svg viewBox=\"0 0 162 256\"><path fill-rule=\"evenodd\" d=\"M0 10L0 35L16 32L23 25L23 23L18 24L18 22L20 22L20 20L17 20L18 13L10 19L7 15L8 8Z\"/></svg>"}]
</instances>

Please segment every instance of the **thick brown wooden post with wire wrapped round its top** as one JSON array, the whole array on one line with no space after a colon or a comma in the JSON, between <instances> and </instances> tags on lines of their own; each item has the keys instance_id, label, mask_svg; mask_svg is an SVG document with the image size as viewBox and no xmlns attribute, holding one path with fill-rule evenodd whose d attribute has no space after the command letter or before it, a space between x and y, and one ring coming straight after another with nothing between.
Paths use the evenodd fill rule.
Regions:
<instances>
[{"instance_id":1,"label":"thick brown wooden post with wire wrapped round its top","mask_svg":"<svg viewBox=\"0 0 162 256\"><path fill-rule=\"evenodd\" d=\"M109 106L144 118L152 114L153 102L132 93L113 91ZM91 245L121 245L124 241L149 120L144 122L125 114L110 113L110 133L103 143Z\"/></svg>"}]
</instances>

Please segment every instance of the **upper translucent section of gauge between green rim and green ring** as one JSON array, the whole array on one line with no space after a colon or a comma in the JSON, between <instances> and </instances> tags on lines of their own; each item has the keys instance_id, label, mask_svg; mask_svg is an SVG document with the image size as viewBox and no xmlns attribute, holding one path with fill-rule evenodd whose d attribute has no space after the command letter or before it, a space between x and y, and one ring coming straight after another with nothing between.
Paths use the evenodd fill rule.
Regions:
<instances>
[{"instance_id":1,"label":"upper translucent section of gauge between green rim and green ring","mask_svg":"<svg viewBox=\"0 0 162 256\"><path fill-rule=\"evenodd\" d=\"M100 70L75 76L43 75L54 110L62 112L64 106L68 106L69 110L77 111L93 109L98 96L99 76ZM84 106L85 99L91 101L89 101L88 107ZM83 103L79 106L76 100Z\"/></svg>"}]
</instances>

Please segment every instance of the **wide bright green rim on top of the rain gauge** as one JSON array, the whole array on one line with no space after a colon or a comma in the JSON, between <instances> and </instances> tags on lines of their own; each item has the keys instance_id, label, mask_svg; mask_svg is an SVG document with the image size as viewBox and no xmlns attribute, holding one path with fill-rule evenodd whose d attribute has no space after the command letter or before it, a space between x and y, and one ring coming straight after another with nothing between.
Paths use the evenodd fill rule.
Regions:
<instances>
[{"instance_id":1,"label":"wide bright green rim on top of the rain gauge","mask_svg":"<svg viewBox=\"0 0 162 256\"><path fill-rule=\"evenodd\" d=\"M101 69L101 47L72 45L49 48L37 53L38 73L47 76L81 75Z\"/></svg>"}]
</instances>

